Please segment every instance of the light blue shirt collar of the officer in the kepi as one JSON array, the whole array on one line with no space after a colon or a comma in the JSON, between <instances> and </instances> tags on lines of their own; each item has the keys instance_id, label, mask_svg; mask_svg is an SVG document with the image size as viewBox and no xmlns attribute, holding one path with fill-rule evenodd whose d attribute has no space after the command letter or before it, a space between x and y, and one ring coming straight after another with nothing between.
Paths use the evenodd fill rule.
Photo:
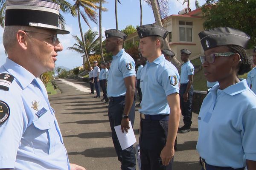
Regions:
<instances>
[{"instance_id":1,"label":"light blue shirt collar of the officer in the kepi","mask_svg":"<svg viewBox=\"0 0 256 170\"><path fill-rule=\"evenodd\" d=\"M3 67L12 74L23 89L25 89L36 77L16 62L7 58Z\"/></svg>"}]
</instances>

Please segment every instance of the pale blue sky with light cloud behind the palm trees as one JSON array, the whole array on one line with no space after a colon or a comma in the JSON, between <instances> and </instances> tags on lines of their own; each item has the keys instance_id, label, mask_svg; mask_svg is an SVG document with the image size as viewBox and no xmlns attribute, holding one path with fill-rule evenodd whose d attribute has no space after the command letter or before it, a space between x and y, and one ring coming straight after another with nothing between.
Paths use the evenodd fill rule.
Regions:
<instances>
[{"instance_id":1,"label":"pale blue sky with light cloud behind the palm trees","mask_svg":"<svg viewBox=\"0 0 256 170\"><path fill-rule=\"evenodd\" d=\"M73 0L67 0L72 5ZM108 11L102 12L102 35L105 35L104 31L108 29L115 29L115 0L106 0L108 3L102 6L107 8ZM140 25L140 1L139 0L120 0L122 4L117 5L118 14L118 28L119 30L124 29L128 25L136 27ZM202 6L205 0L198 0L199 5ZM178 14L180 10L186 8L186 3L182 5L183 0L169 0L170 11L169 14ZM190 0L191 10L195 10L195 0ZM98 11L97 11L98 12ZM61 13L63 14L63 13ZM79 67L82 65L82 55L75 51L68 50L68 47L72 47L76 41L73 39L72 35L80 36L79 25L77 17L72 17L70 14L63 14L66 20L65 29L70 31L70 34L59 35L58 38L61 41L64 49L58 52L57 61L55 62L56 67L64 66L70 69ZM89 20L89 19L88 19ZM152 9L147 3L143 2L143 25L154 23L154 14ZM91 21L89 21L92 31L99 32L99 26ZM89 27L84 23L81 18L81 25L83 33L89 29ZM4 52L4 47L2 43L3 38L3 28L0 28L0 65L3 65L6 61L6 54ZM104 40L104 39L103 39Z\"/></svg>"}]
</instances>

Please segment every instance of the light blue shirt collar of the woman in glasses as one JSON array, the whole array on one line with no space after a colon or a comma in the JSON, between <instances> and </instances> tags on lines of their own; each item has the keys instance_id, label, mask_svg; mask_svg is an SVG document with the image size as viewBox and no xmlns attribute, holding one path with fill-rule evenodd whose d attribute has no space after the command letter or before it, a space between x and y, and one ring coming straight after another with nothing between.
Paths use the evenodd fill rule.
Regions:
<instances>
[{"instance_id":1,"label":"light blue shirt collar of the woman in glasses","mask_svg":"<svg viewBox=\"0 0 256 170\"><path fill-rule=\"evenodd\" d=\"M217 91L219 88L219 85L215 85L211 88L210 91ZM239 94L243 91L247 91L249 89L246 79L241 80L240 82L230 85L224 90L222 90L224 93L229 94L230 96L234 96L236 94Z\"/></svg>"}]
</instances>

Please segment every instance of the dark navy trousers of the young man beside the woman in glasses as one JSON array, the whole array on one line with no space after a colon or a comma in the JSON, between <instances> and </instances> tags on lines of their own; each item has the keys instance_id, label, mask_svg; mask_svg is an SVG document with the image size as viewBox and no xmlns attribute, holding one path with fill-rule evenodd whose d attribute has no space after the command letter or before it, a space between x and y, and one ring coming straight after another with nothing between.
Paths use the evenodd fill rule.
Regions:
<instances>
[{"instance_id":1,"label":"dark navy trousers of the young man beside the woman in glasses","mask_svg":"<svg viewBox=\"0 0 256 170\"><path fill-rule=\"evenodd\" d=\"M141 119L140 126L141 170L172 170L173 158L167 166L160 158L167 141L168 120Z\"/></svg>"}]
</instances>

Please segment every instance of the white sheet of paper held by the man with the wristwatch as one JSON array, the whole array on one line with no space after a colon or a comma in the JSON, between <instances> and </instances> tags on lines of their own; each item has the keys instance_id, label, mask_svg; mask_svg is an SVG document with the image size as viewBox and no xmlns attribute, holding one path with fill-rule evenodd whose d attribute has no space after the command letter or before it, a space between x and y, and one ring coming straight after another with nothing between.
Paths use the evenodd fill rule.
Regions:
<instances>
[{"instance_id":1,"label":"white sheet of paper held by the man with the wristwatch","mask_svg":"<svg viewBox=\"0 0 256 170\"><path fill-rule=\"evenodd\" d=\"M122 150L130 147L136 142L134 131L131 126L131 121L129 121L129 126L130 126L130 129L128 130L128 133L125 130L124 130L124 133L122 133L121 125L114 127L116 130L116 136L118 138L118 141L120 143Z\"/></svg>"}]
</instances>

